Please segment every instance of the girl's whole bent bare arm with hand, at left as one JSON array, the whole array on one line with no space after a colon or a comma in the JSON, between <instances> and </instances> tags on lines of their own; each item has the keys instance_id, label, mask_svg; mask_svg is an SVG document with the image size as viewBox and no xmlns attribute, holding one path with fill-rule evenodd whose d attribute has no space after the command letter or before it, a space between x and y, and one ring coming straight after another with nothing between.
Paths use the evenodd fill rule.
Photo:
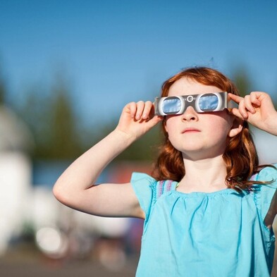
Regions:
<instances>
[{"instance_id":1,"label":"girl's whole bent bare arm with hand, at left","mask_svg":"<svg viewBox=\"0 0 277 277\"><path fill-rule=\"evenodd\" d=\"M130 144L161 121L153 104L127 104L113 132L82 154L54 185L54 195L73 209L98 216L144 217L130 183L95 185L101 171Z\"/></svg>"}]
</instances>

